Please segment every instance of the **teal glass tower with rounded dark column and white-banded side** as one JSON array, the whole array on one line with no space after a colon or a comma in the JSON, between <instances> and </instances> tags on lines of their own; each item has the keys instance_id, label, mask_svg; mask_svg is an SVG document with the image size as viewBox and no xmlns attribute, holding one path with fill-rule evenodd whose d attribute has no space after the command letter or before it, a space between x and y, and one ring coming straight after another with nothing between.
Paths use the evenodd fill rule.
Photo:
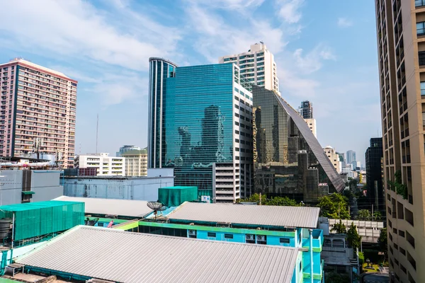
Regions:
<instances>
[{"instance_id":1,"label":"teal glass tower with rounded dark column and white-banded side","mask_svg":"<svg viewBox=\"0 0 425 283\"><path fill-rule=\"evenodd\" d=\"M236 64L176 67L150 58L149 168L174 168L175 185L235 202L251 192L251 84Z\"/></svg>"}]
</instances>

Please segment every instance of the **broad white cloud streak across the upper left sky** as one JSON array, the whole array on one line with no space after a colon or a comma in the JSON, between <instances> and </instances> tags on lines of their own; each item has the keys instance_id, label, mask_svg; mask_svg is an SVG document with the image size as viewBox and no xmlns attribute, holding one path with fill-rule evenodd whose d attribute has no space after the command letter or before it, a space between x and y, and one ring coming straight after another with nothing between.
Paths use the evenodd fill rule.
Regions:
<instances>
[{"instance_id":1,"label":"broad white cloud streak across the upper left sky","mask_svg":"<svg viewBox=\"0 0 425 283\"><path fill-rule=\"evenodd\" d=\"M135 70L146 70L150 56L173 53L180 39L176 28L164 27L140 14L139 23L145 23L140 25L142 30L118 30L109 24L113 21L110 14L82 0L6 1L3 8L8 13L4 14L0 30L19 45L31 42L32 48L45 52L86 57Z\"/></svg>"}]
</instances>

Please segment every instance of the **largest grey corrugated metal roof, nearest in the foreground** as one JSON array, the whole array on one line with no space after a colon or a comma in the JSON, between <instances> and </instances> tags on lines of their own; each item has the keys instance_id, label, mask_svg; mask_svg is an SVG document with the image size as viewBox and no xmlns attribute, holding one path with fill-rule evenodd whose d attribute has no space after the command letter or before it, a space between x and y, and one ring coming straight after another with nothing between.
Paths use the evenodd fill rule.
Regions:
<instances>
[{"instance_id":1,"label":"largest grey corrugated metal roof, nearest in the foreground","mask_svg":"<svg viewBox=\"0 0 425 283\"><path fill-rule=\"evenodd\" d=\"M298 250L78 226L16 262L113 282L291 282Z\"/></svg>"}]
</instances>

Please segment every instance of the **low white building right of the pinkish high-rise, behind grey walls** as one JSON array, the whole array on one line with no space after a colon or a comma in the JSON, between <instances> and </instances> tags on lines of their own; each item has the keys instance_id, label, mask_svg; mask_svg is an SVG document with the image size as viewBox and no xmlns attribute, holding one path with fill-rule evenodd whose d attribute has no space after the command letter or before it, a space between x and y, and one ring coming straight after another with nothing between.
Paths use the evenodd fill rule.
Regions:
<instances>
[{"instance_id":1,"label":"low white building right of the pinkish high-rise, behind grey walls","mask_svg":"<svg viewBox=\"0 0 425 283\"><path fill-rule=\"evenodd\" d=\"M75 168L97 168L98 176L124 176L125 158L109 154L86 154L75 158Z\"/></svg>"}]
</instances>

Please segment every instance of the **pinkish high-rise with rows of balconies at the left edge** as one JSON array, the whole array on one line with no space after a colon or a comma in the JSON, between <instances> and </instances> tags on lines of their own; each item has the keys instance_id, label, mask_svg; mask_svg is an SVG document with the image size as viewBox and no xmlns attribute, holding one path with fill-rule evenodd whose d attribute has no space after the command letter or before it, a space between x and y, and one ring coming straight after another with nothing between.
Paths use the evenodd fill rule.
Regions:
<instances>
[{"instance_id":1,"label":"pinkish high-rise with rows of balconies at the left edge","mask_svg":"<svg viewBox=\"0 0 425 283\"><path fill-rule=\"evenodd\" d=\"M16 58L0 64L0 156L35 151L74 166L77 81Z\"/></svg>"}]
</instances>

